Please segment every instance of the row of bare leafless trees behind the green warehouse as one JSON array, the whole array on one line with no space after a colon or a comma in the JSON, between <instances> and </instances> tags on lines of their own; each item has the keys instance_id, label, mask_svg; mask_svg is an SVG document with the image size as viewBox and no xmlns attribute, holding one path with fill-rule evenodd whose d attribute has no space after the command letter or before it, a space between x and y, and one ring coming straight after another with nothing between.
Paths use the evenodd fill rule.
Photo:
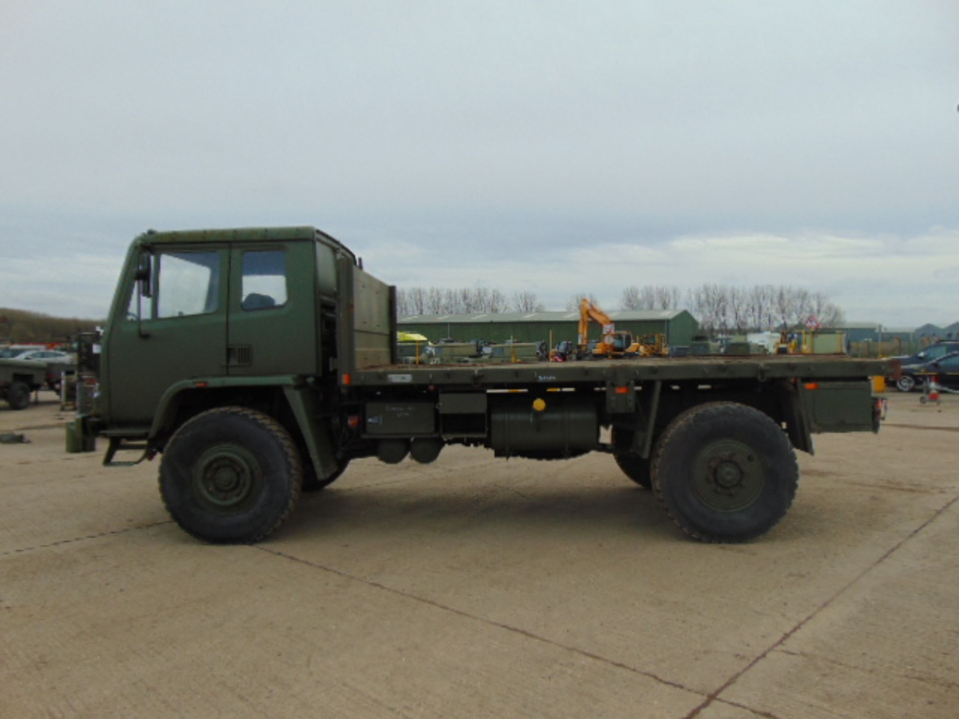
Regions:
<instances>
[{"instance_id":1,"label":"row of bare leafless trees behind the green warehouse","mask_svg":"<svg viewBox=\"0 0 959 719\"><path fill-rule=\"evenodd\" d=\"M596 295L584 291L571 295L565 309L578 311L582 297L596 304ZM400 316L546 312L546 305L533 291L520 290L506 295L501 290L488 288L398 288L396 306ZM618 308L603 309L686 309L706 333L764 332L802 325L810 315L814 315L824 327L836 327L845 321L842 310L825 292L792 285L738 287L704 283L685 292L672 285L631 285L622 290Z\"/></svg>"}]
</instances>

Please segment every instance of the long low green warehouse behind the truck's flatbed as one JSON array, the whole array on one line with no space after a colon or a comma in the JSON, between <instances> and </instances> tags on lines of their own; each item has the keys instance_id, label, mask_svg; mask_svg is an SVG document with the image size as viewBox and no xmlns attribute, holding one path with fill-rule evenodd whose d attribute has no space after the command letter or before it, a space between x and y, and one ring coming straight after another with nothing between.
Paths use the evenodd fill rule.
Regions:
<instances>
[{"instance_id":1,"label":"long low green warehouse behind the truck's flatbed","mask_svg":"<svg viewBox=\"0 0 959 719\"><path fill-rule=\"evenodd\" d=\"M667 336L671 347L689 345L699 332L699 323L686 310L621 310L607 313L616 323L617 331L633 335ZM471 314L411 314L398 317L399 330L426 336L431 342L451 337L457 341L484 339L504 342L576 341L579 313L471 313ZM590 338L598 339L601 330L590 322Z\"/></svg>"}]
</instances>

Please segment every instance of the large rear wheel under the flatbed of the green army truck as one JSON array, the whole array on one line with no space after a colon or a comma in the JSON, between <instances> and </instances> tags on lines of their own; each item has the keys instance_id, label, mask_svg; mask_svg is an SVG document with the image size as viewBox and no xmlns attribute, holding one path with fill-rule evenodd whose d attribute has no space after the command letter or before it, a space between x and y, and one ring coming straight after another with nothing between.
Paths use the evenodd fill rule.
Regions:
<instances>
[{"instance_id":1,"label":"large rear wheel under the flatbed of the green army truck","mask_svg":"<svg viewBox=\"0 0 959 719\"><path fill-rule=\"evenodd\" d=\"M701 405L679 415L652 458L653 488L679 527L703 542L769 531L796 495L799 467L783 429L750 406Z\"/></svg>"}]
</instances>

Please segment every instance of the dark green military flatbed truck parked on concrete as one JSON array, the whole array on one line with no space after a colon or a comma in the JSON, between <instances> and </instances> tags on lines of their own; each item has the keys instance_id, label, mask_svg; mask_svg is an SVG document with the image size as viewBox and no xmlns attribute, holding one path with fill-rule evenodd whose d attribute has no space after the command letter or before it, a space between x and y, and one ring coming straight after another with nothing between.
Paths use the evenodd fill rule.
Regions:
<instances>
[{"instance_id":1,"label":"dark green military flatbed truck parked on concrete","mask_svg":"<svg viewBox=\"0 0 959 719\"><path fill-rule=\"evenodd\" d=\"M743 542L784 517L812 434L877 431L870 378L886 371L801 356L410 365L395 337L394 288L313 227L149 231L72 445L105 438L106 465L162 455L167 510L213 543L263 540L355 459L432 462L451 444L609 453L691 537Z\"/></svg>"}]
</instances>

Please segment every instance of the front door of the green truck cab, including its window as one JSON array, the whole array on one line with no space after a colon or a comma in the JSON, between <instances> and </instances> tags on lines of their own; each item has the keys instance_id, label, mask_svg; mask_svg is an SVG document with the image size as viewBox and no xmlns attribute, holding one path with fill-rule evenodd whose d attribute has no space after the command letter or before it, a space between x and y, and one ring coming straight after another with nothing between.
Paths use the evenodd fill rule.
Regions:
<instances>
[{"instance_id":1,"label":"front door of the green truck cab, including its window","mask_svg":"<svg viewBox=\"0 0 959 719\"><path fill-rule=\"evenodd\" d=\"M150 426L171 384L225 373L229 251L163 245L140 264L150 290L131 283L126 317L115 317L106 337L111 421L138 428Z\"/></svg>"}]
</instances>

